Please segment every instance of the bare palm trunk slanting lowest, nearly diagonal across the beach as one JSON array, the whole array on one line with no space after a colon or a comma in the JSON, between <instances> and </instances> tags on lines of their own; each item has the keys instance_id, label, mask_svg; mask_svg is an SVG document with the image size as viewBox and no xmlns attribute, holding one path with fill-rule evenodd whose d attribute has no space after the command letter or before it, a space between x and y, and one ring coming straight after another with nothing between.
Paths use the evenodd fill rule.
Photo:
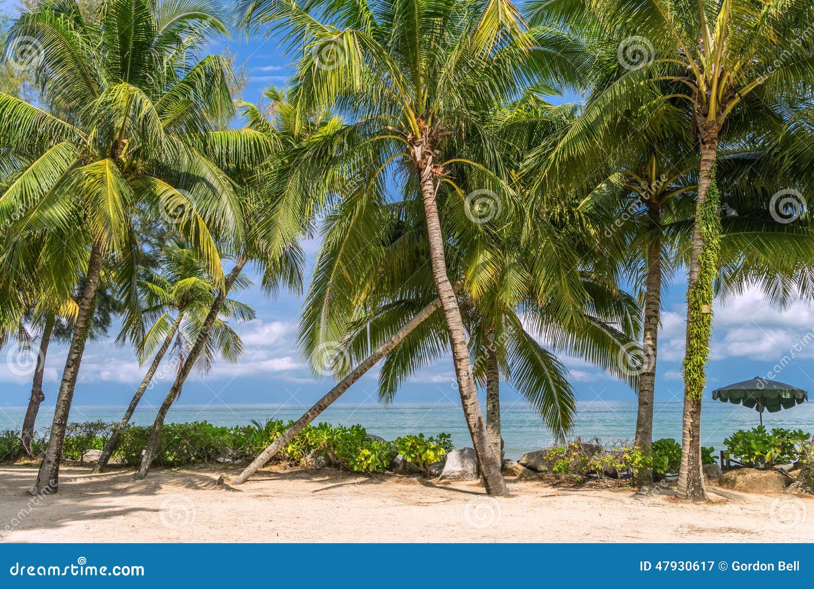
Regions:
<instances>
[{"instance_id":1,"label":"bare palm trunk slanting lowest, nearly diagonal across the beach","mask_svg":"<svg viewBox=\"0 0 814 589\"><path fill-rule=\"evenodd\" d=\"M462 285L463 283L456 284L455 290L457 291L462 287ZM335 402L336 399L338 399L342 393L348 390L353 383L359 380L361 376L365 374L365 372L374 367L375 364L387 356L387 354L390 354L392 349L395 348L396 345L399 345L400 341L402 341L406 336L409 336L410 332L412 332L424 320L428 319L431 314L435 313L435 311L439 310L440 308L441 301L440 299L436 298L429 305L418 311L417 314L414 314L412 319L410 319L403 327L394 333L389 340L380 345L373 354L370 354L370 356L365 358L348 374L348 376L345 376L344 379L339 380L339 383L337 383L333 389L330 389L330 391L328 391L324 397L314 403L313 407L311 407L308 411L305 411L304 415L300 417L299 420L296 420L293 424L289 425L286 431L284 431L280 437L275 439L274 442L272 442L264 451L260 452L256 459L252 461L252 464L249 464L246 468L244 468L243 473L240 473L239 476L234 479L234 484L242 485L244 482L246 482L249 477L257 472L258 468L262 467L264 464L267 464L270 459L274 458L275 454L282 450L283 446L285 446L288 442L291 442L295 435L300 433L300 431L302 431L306 425L315 420L317 415L322 413L322 411L325 411L332 402Z\"/></svg>"}]
</instances>

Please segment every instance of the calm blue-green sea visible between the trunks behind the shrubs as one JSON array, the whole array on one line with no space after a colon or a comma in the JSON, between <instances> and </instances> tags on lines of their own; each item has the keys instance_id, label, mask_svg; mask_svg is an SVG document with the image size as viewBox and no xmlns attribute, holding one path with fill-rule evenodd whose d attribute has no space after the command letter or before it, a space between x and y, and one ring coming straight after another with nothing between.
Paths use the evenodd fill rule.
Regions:
<instances>
[{"instance_id":1,"label":"calm blue-green sea visible between the trunks behind the shrubs","mask_svg":"<svg viewBox=\"0 0 814 589\"><path fill-rule=\"evenodd\" d=\"M208 421L216 425L247 424L250 420L266 418L295 420L308 407L299 405L237 405L183 406L170 409L168 422ZM124 407L73 407L72 421L119 420ZM501 409L501 426L505 440L505 454L517 459L527 451L539 450L553 440L540 418L522 403L505 403ZM25 414L24 407L0 408L0 430L18 429ZM37 417L37 428L50 426L53 407L42 407ZM144 408L133 415L133 424L151 424L155 409ZM368 433L392 439L406 433L424 432L427 435L446 432L452 434L455 446L471 446L461 407L450 403L396 404L392 407L365 404L336 404L320 415L316 422L331 424L361 424ZM704 446L724 447L724 437L737 429L752 428L758 424L756 411L728 403L707 401L702 410L702 437ZM764 414L768 428L784 427L814 431L814 403L803 403L794 409ZM626 440L636 429L635 401L583 401L577 404L577 417L573 436L600 437L603 441ZM655 404L654 439L674 437L681 440L681 402Z\"/></svg>"}]
</instances>

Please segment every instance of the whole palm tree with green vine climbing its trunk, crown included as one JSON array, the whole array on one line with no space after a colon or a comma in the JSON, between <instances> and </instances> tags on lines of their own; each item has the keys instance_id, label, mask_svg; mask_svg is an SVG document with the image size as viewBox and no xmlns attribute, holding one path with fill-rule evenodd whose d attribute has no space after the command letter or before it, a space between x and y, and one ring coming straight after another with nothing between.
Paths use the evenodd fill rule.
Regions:
<instances>
[{"instance_id":1,"label":"whole palm tree with green vine climbing its trunk, crown included","mask_svg":"<svg viewBox=\"0 0 814 589\"><path fill-rule=\"evenodd\" d=\"M807 0L536 0L535 20L567 23L588 42L615 51L619 68L603 99L584 113L600 129L609 115L653 101L689 105L698 142L698 191L687 290L681 499L706 498L701 468L701 398L709 356L712 283L720 244L716 156L730 121L750 121L783 95L800 103L814 81L814 44L801 31L814 17ZM796 31L796 33L795 33ZM619 43L619 39L623 39ZM787 51L781 39L794 39ZM759 130L756 130L759 133Z\"/></svg>"}]
</instances>

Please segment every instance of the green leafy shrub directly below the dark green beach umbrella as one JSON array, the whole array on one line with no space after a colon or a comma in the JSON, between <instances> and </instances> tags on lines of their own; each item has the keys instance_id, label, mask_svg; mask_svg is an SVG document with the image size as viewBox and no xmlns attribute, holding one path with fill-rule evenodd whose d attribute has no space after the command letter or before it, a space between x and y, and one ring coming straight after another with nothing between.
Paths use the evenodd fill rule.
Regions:
<instances>
[{"instance_id":1,"label":"green leafy shrub directly below the dark green beach umbrella","mask_svg":"<svg viewBox=\"0 0 814 589\"><path fill-rule=\"evenodd\" d=\"M769 433L764 425L759 425L754 429L737 430L724 444L729 458L746 466L772 467L799 460L810 438L811 434L802 429L774 428Z\"/></svg>"}]
</instances>

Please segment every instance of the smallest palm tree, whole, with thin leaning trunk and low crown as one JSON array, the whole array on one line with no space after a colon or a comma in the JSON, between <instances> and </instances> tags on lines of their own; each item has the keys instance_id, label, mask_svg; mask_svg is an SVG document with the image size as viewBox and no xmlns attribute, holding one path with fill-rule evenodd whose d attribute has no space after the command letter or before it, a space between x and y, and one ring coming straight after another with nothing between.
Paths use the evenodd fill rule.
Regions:
<instances>
[{"instance_id":1,"label":"smallest palm tree, whole, with thin leaning trunk and low crown","mask_svg":"<svg viewBox=\"0 0 814 589\"><path fill-rule=\"evenodd\" d=\"M162 251L158 265L160 273L147 268L142 269L141 278L138 280L139 299L142 305L125 313L124 327L118 338L121 342L128 339L133 341L140 362L143 363L151 355L152 362L133 394L125 415L122 415L107 440L102 455L94 466L94 473L102 473L107 467L121 432L133 417L138 402L147 392L171 345L173 364L182 365L190 348L190 334L194 336L198 332L215 298L212 293L217 291L217 286L208 276L204 264L194 250L177 245L168 246ZM245 278L239 280L240 288L246 288L248 284ZM221 314L242 321L254 319L254 311L250 307L231 299L224 301ZM143 328L145 322L151 323L151 327L146 331ZM229 362L236 362L243 349L239 336L222 319L217 319L212 325L212 335L208 342L216 342L217 349L208 346L204 350L204 355L201 356L204 362L198 363L202 372L208 371L216 353L221 354Z\"/></svg>"}]
</instances>

